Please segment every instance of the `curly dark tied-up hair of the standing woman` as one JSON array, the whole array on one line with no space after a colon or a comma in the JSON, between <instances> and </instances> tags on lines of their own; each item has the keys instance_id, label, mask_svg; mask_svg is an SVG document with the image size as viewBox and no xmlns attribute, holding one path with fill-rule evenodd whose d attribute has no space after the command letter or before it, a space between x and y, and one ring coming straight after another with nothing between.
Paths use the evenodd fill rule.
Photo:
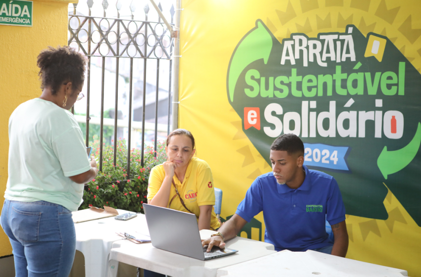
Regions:
<instances>
[{"instance_id":1,"label":"curly dark tied-up hair of the standing woman","mask_svg":"<svg viewBox=\"0 0 421 277\"><path fill-rule=\"evenodd\" d=\"M42 50L37 57L37 66L41 89L51 87L53 95L64 82L72 82L73 90L76 90L85 81L86 58L69 46L49 46Z\"/></svg>"}]
</instances>

